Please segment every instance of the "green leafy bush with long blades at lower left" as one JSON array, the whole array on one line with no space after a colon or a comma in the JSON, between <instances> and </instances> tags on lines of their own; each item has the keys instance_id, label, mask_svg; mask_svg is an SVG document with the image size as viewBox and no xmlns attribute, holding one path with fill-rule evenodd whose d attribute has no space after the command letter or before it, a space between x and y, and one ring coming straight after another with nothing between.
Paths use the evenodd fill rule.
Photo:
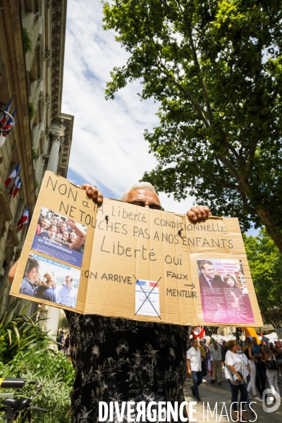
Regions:
<instances>
[{"instance_id":1,"label":"green leafy bush with long blades at lower left","mask_svg":"<svg viewBox=\"0 0 282 423\"><path fill-rule=\"evenodd\" d=\"M25 377L42 383L43 389L32 404L47 412L34 412L32 422L70 423L73 366L65 355L49 348L53 341L41 331L39 321L25 316L29 303L14 317L21 302L15 300L0 320L0 377ZM16 398L32 396L34 386L32 390L27 385L15 394Z\"/></svg>"}]
</instances>

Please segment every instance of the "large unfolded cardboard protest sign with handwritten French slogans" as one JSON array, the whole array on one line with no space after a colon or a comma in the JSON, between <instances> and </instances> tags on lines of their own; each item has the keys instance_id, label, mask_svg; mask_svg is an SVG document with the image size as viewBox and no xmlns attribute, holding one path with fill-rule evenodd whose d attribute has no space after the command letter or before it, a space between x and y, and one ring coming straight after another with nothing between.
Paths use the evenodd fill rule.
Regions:
<instances>
[{"instance_id":1,"label":"large unfolded cardboard protest sign with handwritten French slogans","mask_svg":"<svg viewBox=\"0 0 282 423\"><path fill-rule=\"evenodd\" d=\"M238 219L104 199L47 172L11 294L82 314L262 326Z\"/></svg>"}]
</instances>

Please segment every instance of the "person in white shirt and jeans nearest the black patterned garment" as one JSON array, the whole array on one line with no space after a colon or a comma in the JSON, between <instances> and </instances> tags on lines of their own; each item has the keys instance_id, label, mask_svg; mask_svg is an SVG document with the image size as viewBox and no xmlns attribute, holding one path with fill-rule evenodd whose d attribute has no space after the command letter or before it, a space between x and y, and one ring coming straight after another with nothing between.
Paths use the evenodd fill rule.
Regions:
<instances>
[{"instance_id":1,"label":"person in white shirt and jeans nearest the black patterned garment","mask_svg":"<svg viewBox=\"0 0 282 423\"><path fill-rule=\"evenodd\" d=\"M198 386L202 384L202 357L198 348L197 339L192 339L192 347L187 352L188 374L193 376L191 391L196 400L200 401Z\"/></svg>"}]
</instances>

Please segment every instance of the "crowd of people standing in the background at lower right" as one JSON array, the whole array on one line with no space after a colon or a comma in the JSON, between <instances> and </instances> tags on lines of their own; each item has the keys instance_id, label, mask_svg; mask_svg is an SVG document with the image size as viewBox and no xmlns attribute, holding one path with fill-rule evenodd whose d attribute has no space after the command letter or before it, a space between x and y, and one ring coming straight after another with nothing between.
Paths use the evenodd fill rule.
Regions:
<instances>
[{"instance_id":1,"label":"crowd of people standing in the background at lower right","mask_svg":"<svg viewBox=\"0 0 282 423\"><path fill-rule=\"evenodd\" d=\"M187 366L188 379L192 379L191 391L196 400L201 401L199 386L207 382L203 376L209 371L211 384L221 385L222 372L231 388L231 403L235 419L238 419L237 403L246 403L251 415L255 415L250 401L263 402L266 381L271 389L274 401L280 396L278 373L282 375L282 348L279 341L257 343L257 338L245 338L219 343L214 338L188 339ZM238 396L240 393L240 400ZM245 410L244 410L245 411ZM243 420L247 421L243 410ZM239 420L240 421L240 420Z\"/></svg>"}]
</instances>

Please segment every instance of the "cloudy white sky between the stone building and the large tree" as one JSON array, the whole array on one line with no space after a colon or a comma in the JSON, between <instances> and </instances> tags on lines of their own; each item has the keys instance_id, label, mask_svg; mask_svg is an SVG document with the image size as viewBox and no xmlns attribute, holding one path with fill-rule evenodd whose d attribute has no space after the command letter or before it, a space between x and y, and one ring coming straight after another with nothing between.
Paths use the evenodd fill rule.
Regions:
<instances>
[{"instance_id":1,"label":"cloudy white sky between the stone building and the large tree","mask_svg":"<svg viewBox=\"0 0 282 423\"><path fill-rule=\"evenodd\" d=\"M101 2L69 0L62 111L75 116L70 174L116 198L156 164L142 134L158 125L159 105L140 102L137 81L114 100L104 99L111 70L127 59L114 32L102 28ZM178 203L164 194L161 201L166 210L179 213L192 205L191 199Z\"/></svg>"}]
</instances>

